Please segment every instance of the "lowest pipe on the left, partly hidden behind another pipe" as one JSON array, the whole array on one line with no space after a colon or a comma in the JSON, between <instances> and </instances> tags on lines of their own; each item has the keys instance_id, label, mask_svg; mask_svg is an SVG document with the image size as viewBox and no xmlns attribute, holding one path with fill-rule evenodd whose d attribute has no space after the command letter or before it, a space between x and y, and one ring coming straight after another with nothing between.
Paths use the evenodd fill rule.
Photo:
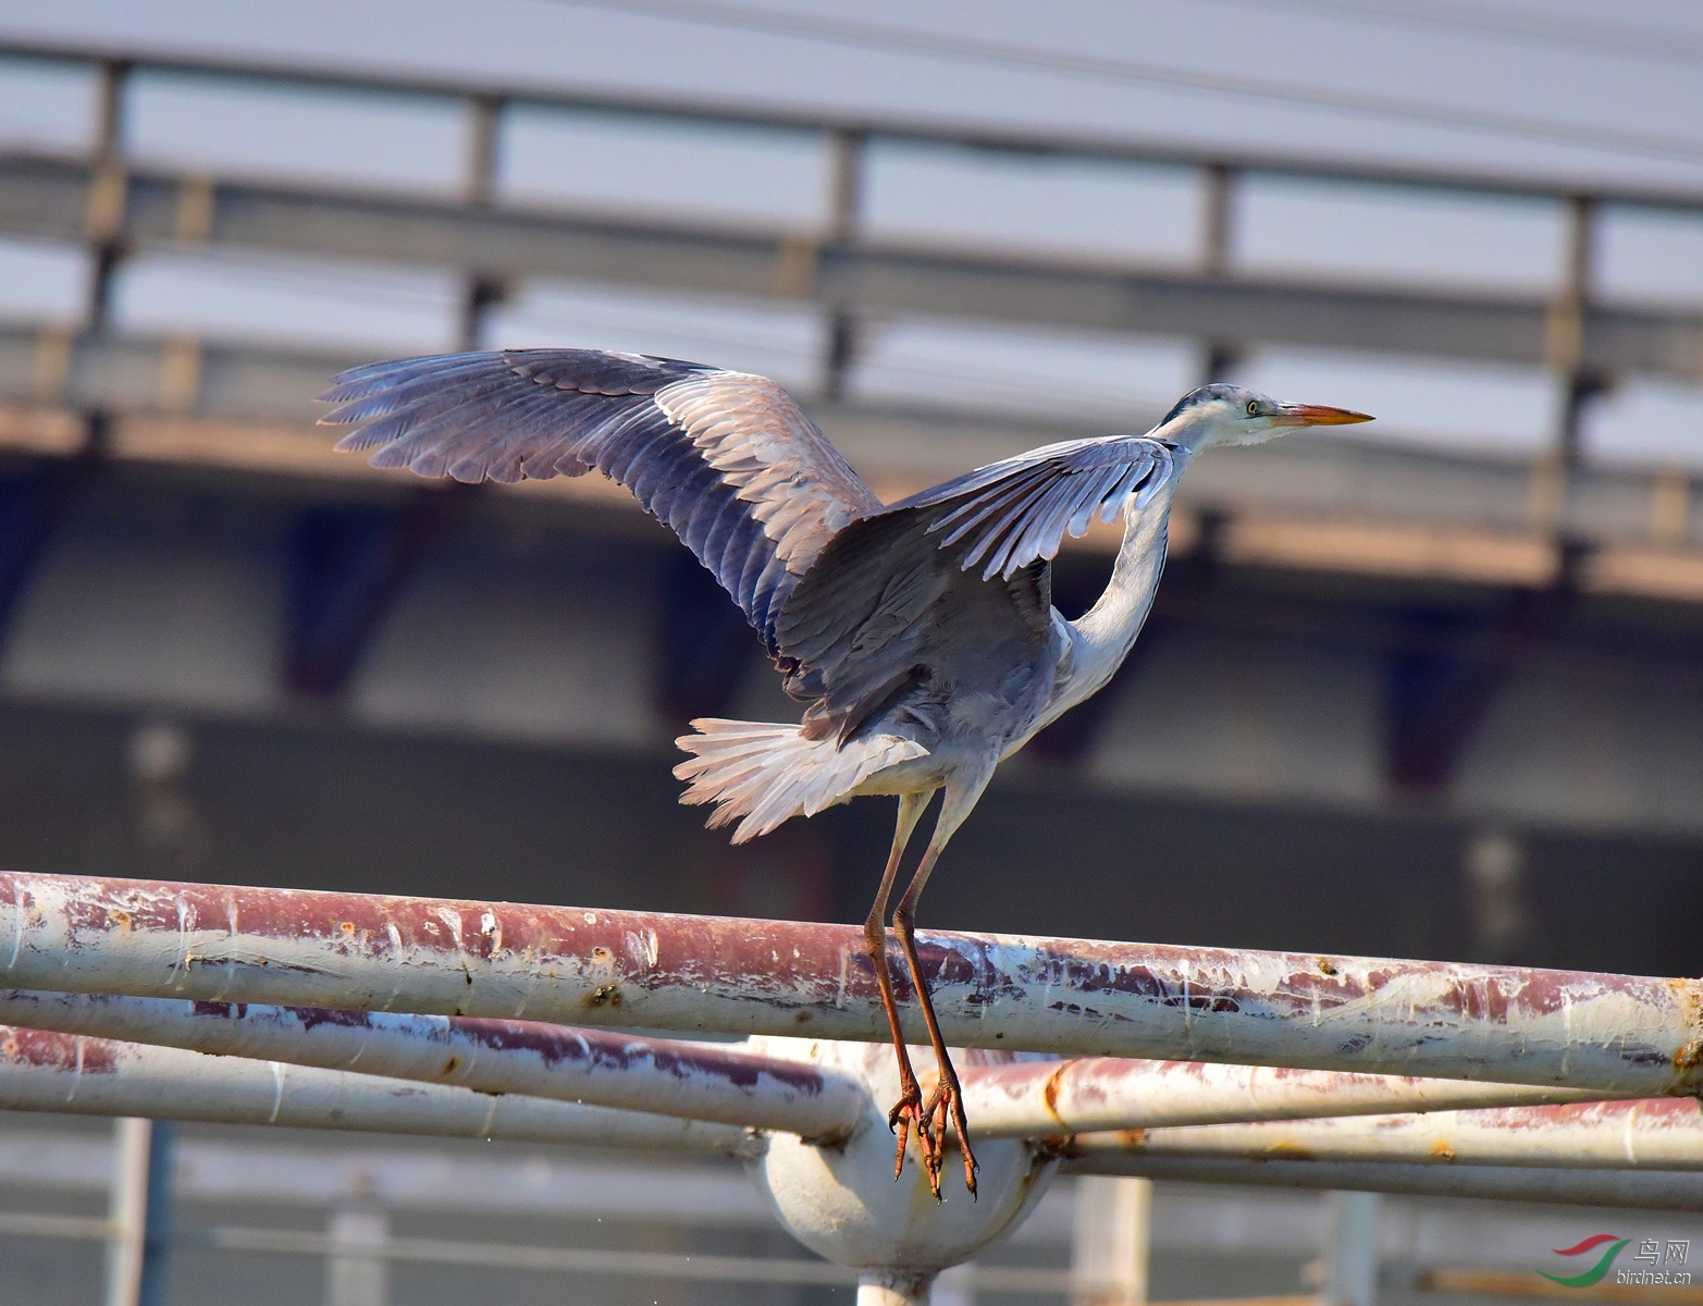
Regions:
<instances>
[{"instance_id":1,"label":"lowest pipe on the left, partly hidden behind another pipe","mask_svg":"<svg viewBox=\"0 0 1703 1306\"><path fill-rule=\"evenodd\" d=\"M0 1025L0 1110L652 1148L741 1160L763 1149L760 1136L724 1124L15 1025Z\"/></svg>"}]
</instances>

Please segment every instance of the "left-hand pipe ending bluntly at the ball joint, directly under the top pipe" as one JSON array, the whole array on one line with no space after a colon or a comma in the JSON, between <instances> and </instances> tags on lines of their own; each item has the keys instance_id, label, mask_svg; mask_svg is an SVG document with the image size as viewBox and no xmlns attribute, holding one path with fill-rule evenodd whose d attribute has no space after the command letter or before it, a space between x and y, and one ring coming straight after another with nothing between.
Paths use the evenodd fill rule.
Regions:
<instances>
[{"instance_id":1,"label":"left-hand pipe ending bluntly at the ball joint, directly under the top pipe","mask_svg":"<svg viewBox=\"0 0 1703 1306\"><path fill-rule=\"evenodd\" d=\"M780 1129L812 1141L845 1137L865 1110L855 1080L804 1063L528 1020L12 989L0 991L0 1022Z\"/></svg>"}]
</instances>

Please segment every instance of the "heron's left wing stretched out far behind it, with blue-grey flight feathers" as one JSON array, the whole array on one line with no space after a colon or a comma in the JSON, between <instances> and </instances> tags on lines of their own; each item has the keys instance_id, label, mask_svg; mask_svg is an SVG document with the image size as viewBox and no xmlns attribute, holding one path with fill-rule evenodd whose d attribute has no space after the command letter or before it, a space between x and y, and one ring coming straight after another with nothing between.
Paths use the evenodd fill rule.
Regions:
<instances>
[{"instance_id":1,"label":"heron's left wing stretched out far behind it, with blue-grey flight feathers","mask_svg":"<svg viewBox=\"0 0 1703 1306\"><path fill-rule=\"evenodd\" d=\"M668 524L775 649L775 611L880 499L766 376L598 349L373 363L332 380L324 426L375 467L456 480L598 468Z\"/></svg>"}]
</instances>

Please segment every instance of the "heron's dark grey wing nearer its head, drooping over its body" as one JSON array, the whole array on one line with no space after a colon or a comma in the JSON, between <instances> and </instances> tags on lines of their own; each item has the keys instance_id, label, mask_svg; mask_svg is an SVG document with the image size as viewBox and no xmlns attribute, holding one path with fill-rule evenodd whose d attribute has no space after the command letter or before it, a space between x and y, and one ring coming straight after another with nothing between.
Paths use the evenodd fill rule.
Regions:
<instances>
[{"instance_id":1,"label":"heron's dark grey wing nearer its head, drooping over its body","mask_svg":"<svg viewBox=\"0 0 1703 1306\"><path fill-rule=\"evenodd\" d=\"M1046 647L1064 535L1139 509L1173 455L1146 438L1051 444L850 524L777 618L788 691L821 700L819 729L841 737L925 681L1015 695L1001 678Z\"/></svg>"}]
</instances>

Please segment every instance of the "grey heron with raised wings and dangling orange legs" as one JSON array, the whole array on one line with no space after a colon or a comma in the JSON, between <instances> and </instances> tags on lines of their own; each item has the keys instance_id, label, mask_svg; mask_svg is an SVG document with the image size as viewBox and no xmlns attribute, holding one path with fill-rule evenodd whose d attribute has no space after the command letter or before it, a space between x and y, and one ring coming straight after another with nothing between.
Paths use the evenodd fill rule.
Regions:
<instances>
[{"instance_id":1,"label":"grey heron with raised wings and dangling orange legs","mask_svg":"<svg viewBox=\"0 0 1703 1306\"><path fill-rule=\"evenodd\" d=\"M591 349L513 349L354 368L320 398L337 448L376 467L462 482L598 468L673 528L761 635L790 724L702 719L676 742L686 804L715 804L734 841L863 795L899 819L865 923L901 1068L889 1115L894 1177L915 1127L940 1195L947 1124L976 1192L976 1156L916 955L916 901L1001 758L1100 690L1129 654L1165 564L1177 480L1214 444L1371 421L1204 385L1143 436L1071 439L969 472L896 504L852 470L780 385L698 363ZM1078 620L1051 603L1051 558L1095 518L1124 519L1112 579ZM911 831L945 790L892 911L938 1063L925 1098L887 965L887 902Z\"/></svg>"}]
</instances>

